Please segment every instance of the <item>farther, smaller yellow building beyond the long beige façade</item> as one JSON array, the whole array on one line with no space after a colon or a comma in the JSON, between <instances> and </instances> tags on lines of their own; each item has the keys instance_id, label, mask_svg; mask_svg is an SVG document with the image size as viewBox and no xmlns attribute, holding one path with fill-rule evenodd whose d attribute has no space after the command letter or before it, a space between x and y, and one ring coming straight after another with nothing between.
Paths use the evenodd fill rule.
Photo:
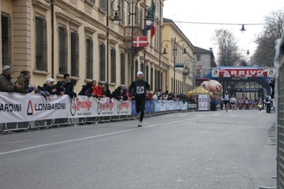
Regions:
<instances>
[{"instance_id":1,"label":"farther, smaller yellow building beyond the long beige fa\u00e7ade","mask_svg":"<svg viewBox=\"0 0 284 189\"><path fill-rule=\"evenodd\" d=\"M186 92L194 86L194 72L192 71L194 46L174 21L167 18L164 18L162 48L164 54L167 52L163 61L169 65L167 90L186 95ZM177 68L177 65L182 65L182 68Z\"/></svg>"}]
</instances>

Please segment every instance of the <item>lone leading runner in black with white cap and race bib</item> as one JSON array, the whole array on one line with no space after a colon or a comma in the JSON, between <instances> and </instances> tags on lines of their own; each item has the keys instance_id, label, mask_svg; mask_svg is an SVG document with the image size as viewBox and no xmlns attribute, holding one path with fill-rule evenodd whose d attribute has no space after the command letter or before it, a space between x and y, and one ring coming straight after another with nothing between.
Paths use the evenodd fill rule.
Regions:
<instances>
[{"instance_id":1,"label":"lone leading runner in black with white cap and race bib","mask_svg":"<svg viewBox=\"0 0 284 189\"><path fill-rule=\"evenodd\" d=\"M150 90L150 85L146 80L143 80L143 72L137 72L137 77L137 80L132 82L129 87L130 97L128 99L135 99L136 112L137 114L140 112L138 126L142 126L146 101L146 92Z\"/></svg>"}]
</instances>

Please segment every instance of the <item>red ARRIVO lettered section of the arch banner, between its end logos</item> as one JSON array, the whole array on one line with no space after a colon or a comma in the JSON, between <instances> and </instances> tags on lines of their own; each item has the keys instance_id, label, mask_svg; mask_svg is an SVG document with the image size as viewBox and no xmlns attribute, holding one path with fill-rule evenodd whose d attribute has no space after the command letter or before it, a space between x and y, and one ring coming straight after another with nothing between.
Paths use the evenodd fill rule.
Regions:
<instances>
[{"instance_id":1,"label":"red ARRIVO lettered section of the arch banner, between its end logos","mask_svg":"<svg viewBox=\"0 0 284 189\"><path fill-rule=\"evenodd\" d=\"M220 69L219 77L268 77L266 69Z\"/></svg>"}]
</instances>

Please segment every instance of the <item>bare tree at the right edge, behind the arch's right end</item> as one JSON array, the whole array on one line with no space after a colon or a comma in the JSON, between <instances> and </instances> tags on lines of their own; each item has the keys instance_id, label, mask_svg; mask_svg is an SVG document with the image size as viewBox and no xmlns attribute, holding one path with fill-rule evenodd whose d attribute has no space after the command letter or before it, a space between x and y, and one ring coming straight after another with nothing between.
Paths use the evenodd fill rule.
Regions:
<instances>
[{"instance_id":1,"label":"bare tree at the right edge, behind the arch's right end","mask_svg":"<svg viewBox=\"0 0 284 189\"><path fill-rule=\"evenodd\" d=\"M275 56L275 40L281 38L283 34L284 9L272 11L265 16L265 26L263 31L256 36L257 48L253 54L256 65L273 67Z\"/></svg>"}]
</instances>

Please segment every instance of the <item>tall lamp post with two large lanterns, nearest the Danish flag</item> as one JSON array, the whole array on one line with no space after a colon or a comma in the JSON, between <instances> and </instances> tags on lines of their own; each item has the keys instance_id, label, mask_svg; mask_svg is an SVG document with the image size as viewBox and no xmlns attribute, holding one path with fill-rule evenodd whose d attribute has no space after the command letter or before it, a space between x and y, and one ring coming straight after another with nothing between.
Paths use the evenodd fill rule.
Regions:
<instances>
[{"instance_id":1,"label":"tall lamp post with two large lanterns, nearest the Danish flag","mask_svg":"<svg viewBox=\"0 0 284 189\"><path fill-rule=\"evenodd\" d=\"M133 79L133 71L134 71L134 67L135 67L135 63L134 63L134 59L135 59L135 50L134 50L134 47L133 47L133 37L134 37L134 16L137 16L137 5L138 3L141 1L141 0L138 0L138 1L135 1L135 0L118 0L119 1L119 5L117 6L117 9L113 9L113 3L115 2L115 0L112 1L112 4L111 4L111 9L112 11L115 11L114 13L114 16L112 18L112 21L115 23L115 25L118 25L121 21L121 18L118 16L118 12L120 11L120 4L122 3L122 1L125 1L128 5L128 24L130 24L130 16L131 16L131 81L134 80ZM130 9L130 5L132 6L132 9ZM148 9L148 10L147 10ZM147 10L147 16L146 18L144 18L144 21L146 23L147 26L151 25L154 21L154 19L152 18L151 16L151 12L149 10L149 6L145 6L145 10ZM130 82L131 82L130 81Z\"/></svg>"}]
</instances>

